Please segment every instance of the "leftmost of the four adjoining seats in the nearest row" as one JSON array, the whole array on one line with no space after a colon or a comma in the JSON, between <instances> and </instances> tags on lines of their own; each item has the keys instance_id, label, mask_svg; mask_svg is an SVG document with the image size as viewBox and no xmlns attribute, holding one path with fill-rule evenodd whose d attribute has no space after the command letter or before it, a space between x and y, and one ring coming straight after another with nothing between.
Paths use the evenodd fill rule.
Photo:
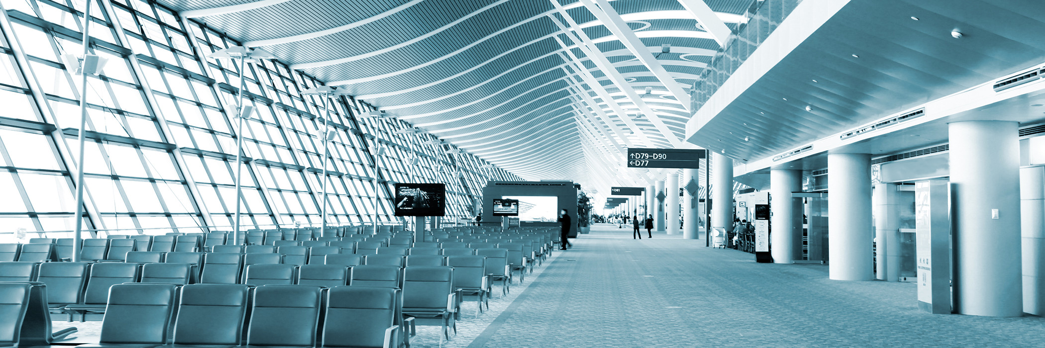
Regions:
<instances>
[{"instance_id":1,"label":"leftmost of the four adjoining seats in the nearest row","mask_svg":"<svg viewBox=\"0 0 1045 348\"><path fill-rule=\"evenodd\" d=\"M150 347L167 343L175 285L116 284L110 288L101 339L79 347Z\"/></svg>"}]
</instances>

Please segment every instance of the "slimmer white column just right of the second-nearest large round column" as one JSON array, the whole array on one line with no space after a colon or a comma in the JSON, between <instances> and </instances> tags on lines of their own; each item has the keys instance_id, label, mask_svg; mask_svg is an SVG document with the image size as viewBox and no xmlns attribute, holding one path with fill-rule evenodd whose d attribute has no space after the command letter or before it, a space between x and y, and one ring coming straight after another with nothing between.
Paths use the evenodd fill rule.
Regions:
<instances>
[{"instance_id":1,"label":"slimmer white column just right of the second-nearest large round column","mask_svg":"<svg viewBox=\"0 0 1045 348\"><path fill-rule=\"evenodd\" d=\"M830 172L829 172L830 173ZM870 195L878 246L877 278L900 280L900 191L897 184L878 184Z\"/></svg>"}]
</instances>

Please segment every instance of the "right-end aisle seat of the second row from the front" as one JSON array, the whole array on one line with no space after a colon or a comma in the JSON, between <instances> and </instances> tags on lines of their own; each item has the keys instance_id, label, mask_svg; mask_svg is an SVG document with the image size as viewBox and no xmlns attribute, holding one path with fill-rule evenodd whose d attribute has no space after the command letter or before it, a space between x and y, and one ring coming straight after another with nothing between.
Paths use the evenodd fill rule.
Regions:
<instances>
[{"instance_id":1,"label":"right-end aisle seat of the second row from the front","mask_svg":"<svg viewBox=\"0 0 1045 348\"><path fill-rule=\"evenodd\" d=\"M457 314L457 295L454 288L454 268L409 266L403 270L402 314L417 319L439 319L443 334L449 339ZM423 325L423 322L418 322Z\"/></svg>"}]
</instances>

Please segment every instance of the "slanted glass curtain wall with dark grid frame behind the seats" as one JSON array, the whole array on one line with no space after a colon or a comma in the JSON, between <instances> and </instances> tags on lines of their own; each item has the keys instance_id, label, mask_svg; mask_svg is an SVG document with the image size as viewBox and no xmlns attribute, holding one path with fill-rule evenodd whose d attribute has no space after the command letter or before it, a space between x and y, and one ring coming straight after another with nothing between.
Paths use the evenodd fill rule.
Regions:
<instances>
[{"instance_id":1,"label":"slanted glass curtain wall with dark grid frame behind the seats","mask_svg":"<svg viewBox=\"0 0 1045 348\"><path fill-rule=\"evenodd\" d=\"M255 110L243 127L243 228L319 226L326 113L301 92L321 83L277 61L240 72L206 57L238 43L201 22L153 1L108 3L91 14L90 50L109 62L88 77L85 237L231 230L240 78ZM85 0L0 7L0 239L70 236L82 96L62 55L83 51ZM328 224L372 223L375 198L378 222L397 221L396 182L445 183L447 216L468 217L487 180L520 180L405 122L358 117L372 110L350 96L330 105Z\"/></svg>"}]
</instances>

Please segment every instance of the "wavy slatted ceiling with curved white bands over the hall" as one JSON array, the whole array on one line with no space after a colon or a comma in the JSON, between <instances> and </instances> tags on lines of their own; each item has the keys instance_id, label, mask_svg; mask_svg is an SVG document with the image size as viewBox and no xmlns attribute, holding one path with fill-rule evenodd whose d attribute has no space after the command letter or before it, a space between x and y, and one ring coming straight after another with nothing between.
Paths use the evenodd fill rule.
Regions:
<instances>
[{"instance_id":1,"label":"wavy slatted ceiling with curved white bands over the hall","mask_svg":"<svg viewBox=\"0 0 1045 348\"><path fill-rule=\"evenodd\" d=\"M568 18L556 0L166 3L527 180L644 183L645 172L621 168L622 147L678 144L691 112L672 91L689 93L718 43L690 8L701 0L609 2L637 43L582 1L605 3L561 1ZM735 28L751 1L706 5ZM571 22L584 36L560 29ZM587 54L585 39L600 52ZM677 86L657 78L629 42L645 46ZM663 44L671 52L660 53Z\"/></svg>"}]
</instances>

